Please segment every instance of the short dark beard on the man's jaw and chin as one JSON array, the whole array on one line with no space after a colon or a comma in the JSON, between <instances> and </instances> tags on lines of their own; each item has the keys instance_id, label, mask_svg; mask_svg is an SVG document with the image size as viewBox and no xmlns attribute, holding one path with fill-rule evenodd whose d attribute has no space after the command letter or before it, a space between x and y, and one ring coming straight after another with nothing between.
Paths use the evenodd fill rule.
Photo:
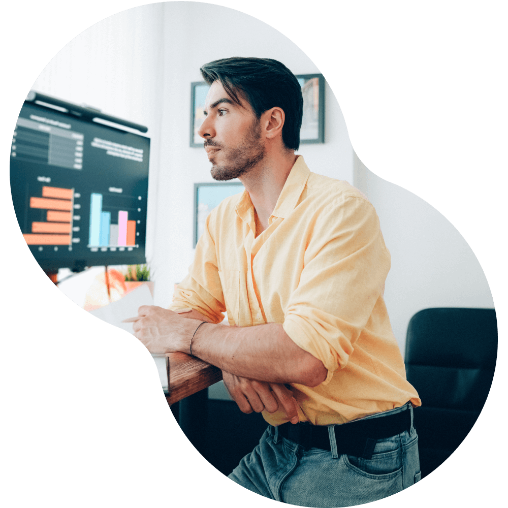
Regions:
<instances>
[{"instance_id":1,"label":"short dark beard on the man's jaw and chin","mask_svg":"<svg viewBox=\"0 0 508 508\"><path fill-rule=\"evenodd\" d=\"M260 139L260 120L255 119L246 139L236 148L226 149L219 143L205 141L205 146L217 146L227 157L227 162L223 165L212 165L212 178L219 181L233 180L255 168L265 157L265 147Z\"/></svg>"}]
</instances>

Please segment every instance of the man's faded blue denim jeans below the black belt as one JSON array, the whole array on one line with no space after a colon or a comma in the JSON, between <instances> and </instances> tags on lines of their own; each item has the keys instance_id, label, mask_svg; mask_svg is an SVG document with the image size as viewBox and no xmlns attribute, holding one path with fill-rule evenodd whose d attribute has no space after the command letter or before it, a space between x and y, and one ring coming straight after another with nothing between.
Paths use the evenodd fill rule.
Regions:
<instances>
[{"instance_id":1,"label":"man's faded blue denim jeans below the black belt","mask_svg":"<svg viewBox=\"0 0 508 508\"><path fill-rule=\"evenodd\" d=\"M228 478L269 499L312 508L357 506L391 496L421 478L412 406L408 402L365 418L403 410L411 411L410 431L379 439L371 459L334 453L337 448L333 432L329 433L331 452L319 448L305 450L278 436L277 428L269 425L259 445Z\"/></svg>"}]
</instances>

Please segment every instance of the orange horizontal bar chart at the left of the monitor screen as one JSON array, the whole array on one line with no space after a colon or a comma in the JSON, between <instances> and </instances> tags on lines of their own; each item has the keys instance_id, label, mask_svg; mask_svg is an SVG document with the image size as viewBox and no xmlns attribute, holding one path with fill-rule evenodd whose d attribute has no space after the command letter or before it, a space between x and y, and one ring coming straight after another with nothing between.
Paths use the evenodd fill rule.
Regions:
<instances>
[{"instance_id":1,"label":"orange horizontal bar chart at the left of the monitor screen","mask_svg":"<svg viewBox=\"0 0 508 508\"><path fill-rule=\"evenodd\" d=\"M73 188L42 187L42 197L31 196L29 208L46 210L45 221L32 221L27 245L72 245Z\"/></svg>"}]
</instances>

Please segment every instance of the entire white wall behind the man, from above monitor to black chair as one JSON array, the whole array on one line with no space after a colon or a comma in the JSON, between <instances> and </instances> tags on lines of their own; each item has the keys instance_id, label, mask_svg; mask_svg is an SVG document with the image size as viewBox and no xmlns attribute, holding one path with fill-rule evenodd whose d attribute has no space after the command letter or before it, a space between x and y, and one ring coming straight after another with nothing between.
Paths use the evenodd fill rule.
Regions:
<instances>
[{"instance_id":1,"label":"entire white wall behind the man, from above monitor to black chair","mask_svg":"<svg viewBox=\"0 0 508 508\"><path fill-rule=\"evenodd\" d=\"M295 74L327 77L312 55L257 18L216 4L164 2L129 9L85 30L33 86L148 126L147 259L156 305L170 303L173 284L193 260L194 183L213 181L203 149L188 146L190 83L202 80L203 63L228 56L275 58ZM299 153L311 171L347 180L373 202L392 253L385 297L401 350L407 323L418 310L493 307L485 275L465 240L428 203L361 164L328 84L325 94L326 142L302 145Z\"/></svg>"}]
</instances>

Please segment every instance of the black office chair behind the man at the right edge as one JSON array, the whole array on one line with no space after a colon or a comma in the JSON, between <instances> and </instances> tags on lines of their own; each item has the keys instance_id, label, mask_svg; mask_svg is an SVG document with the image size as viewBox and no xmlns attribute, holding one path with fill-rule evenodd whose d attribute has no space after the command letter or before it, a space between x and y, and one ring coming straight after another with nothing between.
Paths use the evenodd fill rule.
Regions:
<instances>
[{"instance_id":1,"label":"black office chair behind the man at the right edge","mask_svg":"<svg viewBox=\"0 0 508 508\"><path fill-rule=\"evenodd\" d=\"M407 380L422 406L414 410L422 478L467 436L487 400L497 359L495 309L435 308L407 327Z\"/></svg>"}]
</instances>

